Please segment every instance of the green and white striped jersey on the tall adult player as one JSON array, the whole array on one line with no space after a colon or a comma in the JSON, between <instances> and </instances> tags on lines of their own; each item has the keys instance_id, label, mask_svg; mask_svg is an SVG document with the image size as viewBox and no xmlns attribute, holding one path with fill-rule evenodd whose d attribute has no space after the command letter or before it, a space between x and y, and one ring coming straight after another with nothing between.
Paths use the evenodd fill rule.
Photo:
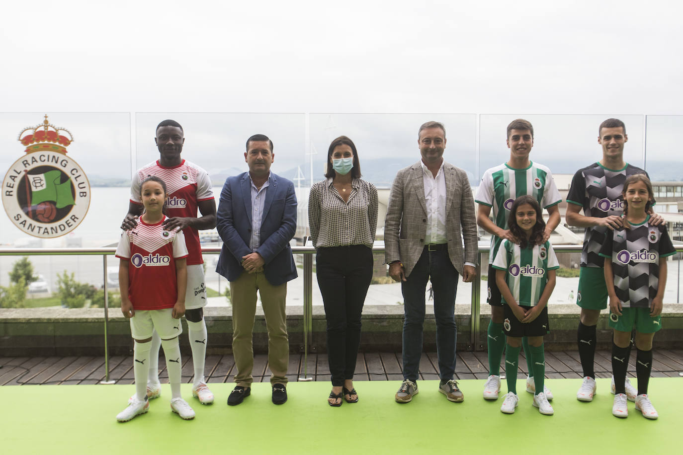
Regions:
<instances>
[{"instance_id":1,"label":"green and white striped jersey on the tall adult player","mask_svg":"<svg viewBox=\"0 0 683 455\"><path fill-rule=\"evenodd\" d=\"M487 169L479 184L475 202L492 207L493 222L499 228L507 229L512 203L525 194L533 197L544 209L562 202L550 169L535 162L530 162L525 169L514 169L507 163ZM500 244L501 238L492 235L488 263L493 263Z\"/></svg>"}]
</instances>

